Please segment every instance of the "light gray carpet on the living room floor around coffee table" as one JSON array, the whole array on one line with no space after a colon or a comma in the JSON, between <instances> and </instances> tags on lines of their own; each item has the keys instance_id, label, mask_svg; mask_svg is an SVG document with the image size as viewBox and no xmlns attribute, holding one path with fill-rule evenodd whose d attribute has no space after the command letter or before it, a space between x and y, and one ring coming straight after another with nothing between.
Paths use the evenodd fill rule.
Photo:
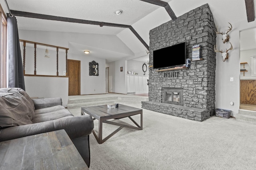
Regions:
<instances>
[{"instance_id":1,"label":"light gray carpet on the living room floor around coffee table","mask_svg":"<svg viewBox=\"0 0 256 170\"><path fill-rule=\"evenodd\" d=\"M80 109L72 111L80 115ZM133 118L139 122L139 115ZM94 125L98 132L98 121ZM103 137L115 129L104 124ZM197 122L143 109L142 131L123 128L103 144L91 134L90 151L90 170L254 170L256 125L215 116Z\"/></svg>"}]
</instances>

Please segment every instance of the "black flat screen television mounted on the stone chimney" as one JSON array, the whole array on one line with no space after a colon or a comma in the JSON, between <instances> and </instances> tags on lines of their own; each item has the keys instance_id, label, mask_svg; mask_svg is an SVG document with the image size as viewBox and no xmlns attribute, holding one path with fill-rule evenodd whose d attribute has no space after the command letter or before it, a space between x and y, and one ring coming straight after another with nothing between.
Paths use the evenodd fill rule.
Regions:
<instances>
[{"instance_id":1,"label":"black flat screen television mounted on the stone chimney","mask_svg":"<svg viewBox=\"0 0 256 170\"><path fill-rule=\"evenodd\" d=\"M186 42L153 51L153 68L172 68L184 64L186 64Z\"/></svg>"}]
</instances>

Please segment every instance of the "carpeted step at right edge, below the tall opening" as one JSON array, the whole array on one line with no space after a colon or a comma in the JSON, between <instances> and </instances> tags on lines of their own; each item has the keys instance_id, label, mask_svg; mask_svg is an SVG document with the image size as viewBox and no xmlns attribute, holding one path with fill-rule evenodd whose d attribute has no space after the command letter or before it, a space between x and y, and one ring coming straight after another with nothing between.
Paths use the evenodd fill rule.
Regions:
<instances>
[{"instance_id":1,"label":"carpeted step at right edge, below the tall opening","mask_svg":"<svg viewBox=\"0 0 256 170\"><path fill-rule=\"evenodd\" d=\"M236 114L236 120L256 124L256 111L240 109Z\"/></svg>"}]
</instances>

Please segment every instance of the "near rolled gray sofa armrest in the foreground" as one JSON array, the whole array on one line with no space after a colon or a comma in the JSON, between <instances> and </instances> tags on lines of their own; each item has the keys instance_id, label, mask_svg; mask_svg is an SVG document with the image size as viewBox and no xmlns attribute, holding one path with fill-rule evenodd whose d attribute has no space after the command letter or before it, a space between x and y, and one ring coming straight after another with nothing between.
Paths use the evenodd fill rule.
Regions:
<instances>
[{"instance_id":1,"label":"near rolled gray sofa armrest in the foreground","mask_svg":"<svg viewBox=\"0 0 256 170\"><path fill-rule=\"evenodd\" d=\"M64 129L70 139L75 139L77 137L90 135L93 128L94 123L90 115L74 116L0 129L0 141L7 141L60 129Z\"/></svg>"}]
</instances>

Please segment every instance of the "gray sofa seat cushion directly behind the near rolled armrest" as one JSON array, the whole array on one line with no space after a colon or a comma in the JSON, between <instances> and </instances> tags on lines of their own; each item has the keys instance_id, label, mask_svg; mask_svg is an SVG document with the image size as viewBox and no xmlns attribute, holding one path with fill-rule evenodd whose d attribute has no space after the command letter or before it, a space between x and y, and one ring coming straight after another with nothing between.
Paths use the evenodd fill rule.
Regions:
<instances>
[{"instance_id":1,"label":"gray sofa seat cushion directly behind the near rolled armrest","mask_svg":"<svg viewBox=\"0 0 256 170\"><path fill-rule=\"evenodd\" d=\"M55 107L55 106L53 106ZM51 108L51 107L49 107ZM38 109L40 110L40 109ZM36 114L34 118L32 119L33 123L39 123L39 122L44 122L44 121L50 121L50 120L55 120L55 119L61 119L61 118L67 118L67 117L74 117L68 109L60 109L56 111L51 111L48 113L41 113L41 114Z\"/></svg>"}]
</instances>

